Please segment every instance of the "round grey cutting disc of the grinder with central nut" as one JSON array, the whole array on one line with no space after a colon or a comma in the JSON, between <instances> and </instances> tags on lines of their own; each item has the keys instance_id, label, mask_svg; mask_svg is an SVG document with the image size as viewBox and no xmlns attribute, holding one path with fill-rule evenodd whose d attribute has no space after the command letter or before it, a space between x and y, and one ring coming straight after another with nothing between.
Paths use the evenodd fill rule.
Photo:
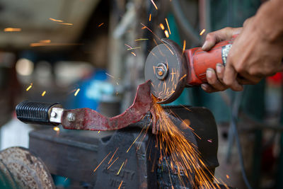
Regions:
<instances>
[{"instance_id":1,"label":"round grey cutting disc of the grinder with central nut","mask_svg":"<svg viewBox=\"0 0 283 189\"><path fill-rule=\"evenodd\" d=\"M171 103L182 93L187 81L187 64L178 44L163 39L149 53L144 77L151 80L151 93L158 103Z\"/></svg>"}]
</instances>

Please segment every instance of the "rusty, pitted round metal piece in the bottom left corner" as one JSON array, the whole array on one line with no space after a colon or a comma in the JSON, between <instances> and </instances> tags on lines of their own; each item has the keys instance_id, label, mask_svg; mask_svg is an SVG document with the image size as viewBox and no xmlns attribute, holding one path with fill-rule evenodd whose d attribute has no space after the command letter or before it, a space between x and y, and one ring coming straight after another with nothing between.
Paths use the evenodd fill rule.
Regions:
<instances>
[{"instance_id":1,"label":"rusty, pitted round metal piece in the bottom left corner","mask_svg":"<svg viewBox=\"0 0 283 189\"><path fill-rule=\"evenodd\" d=\"M45 164L28 149L11 147L0 152L0 160L19 188L55 188Z\"/></svg>"}]
</instances>

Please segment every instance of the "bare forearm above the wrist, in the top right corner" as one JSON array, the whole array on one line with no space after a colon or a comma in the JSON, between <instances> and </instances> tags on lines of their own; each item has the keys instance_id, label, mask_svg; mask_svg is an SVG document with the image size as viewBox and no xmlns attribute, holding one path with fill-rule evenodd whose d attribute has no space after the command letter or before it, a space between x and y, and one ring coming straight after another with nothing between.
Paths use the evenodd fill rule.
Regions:
<instances>
[{"instance_id":1,"label":"bare forearm above the wrist, in the top right corner","mask_svg":"<svg viewBox=\"0 0 283 189\"><path fill-rule=\"evenodd\" d=\"M253 22L264 38L283 42L283 0L270 0L260 6Z\"/></svg>"}]
</instances>

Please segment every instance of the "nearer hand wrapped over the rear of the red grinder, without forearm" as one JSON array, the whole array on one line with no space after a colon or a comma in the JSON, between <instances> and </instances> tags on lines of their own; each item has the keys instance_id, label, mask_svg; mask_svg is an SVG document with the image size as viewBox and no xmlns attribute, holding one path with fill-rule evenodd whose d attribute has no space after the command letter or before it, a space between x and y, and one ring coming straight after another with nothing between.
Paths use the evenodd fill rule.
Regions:
<instances>
[{"instance_id":1,"label":"nearer hand wrapped over the rear of the red grinder, without forearm","mask_svg":"<svg viewBox=\"0 0 283 189\"><path fill-rule=\"evenodd\" d=\"M270 40L258 24L254 18L244 23L229 52L223 81L233 91L243 90L243 84L258 84L263 77L282 70L282 42Z\"/></svg>"}]
</instances>

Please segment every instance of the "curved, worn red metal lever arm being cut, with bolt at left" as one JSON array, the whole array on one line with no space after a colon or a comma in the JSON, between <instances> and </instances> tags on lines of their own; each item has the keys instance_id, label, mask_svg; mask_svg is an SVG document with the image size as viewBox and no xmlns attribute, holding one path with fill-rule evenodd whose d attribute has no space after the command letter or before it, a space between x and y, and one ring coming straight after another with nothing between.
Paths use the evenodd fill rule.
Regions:
<instances>
[{"instance_id":1,"label":"curved, worn red metal lever arm being cut, with bolt at left","mask_svg":"<svg viewBox=\"0 0 283 189\"><path fill-rule=\"evenodd\" d=\"M118 130L139 122L151 110L151 81L141 84L137 88L134 103L124 113L113 118L105 117L96 110L79 108L64 110L62 125L68 130Z\"/></svg>"}]
</instances>

